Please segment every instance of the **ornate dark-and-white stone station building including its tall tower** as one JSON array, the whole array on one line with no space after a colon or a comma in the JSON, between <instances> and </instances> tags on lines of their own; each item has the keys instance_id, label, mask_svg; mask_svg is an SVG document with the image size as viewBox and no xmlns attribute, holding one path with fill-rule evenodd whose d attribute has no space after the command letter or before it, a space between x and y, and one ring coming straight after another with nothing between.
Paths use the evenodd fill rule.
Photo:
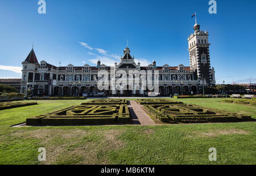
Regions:
<instances>
[{"instance_id":1,"label":"ornate dark-and-white stone station building including its tall tower","mask_svg":"<svg viewBox=\"0 0 256 176\"><path fill-rule=\"evenodd\" d=\"M22 62L22 85L20 92L28 89L34 95L73 96L81 93L105 92L109 96L144 96L151 89L143 86L142 71L152 72L152 80L158 79L160 96L190 95L199 93L204 86L215 85L214 68L210 68L208 32L200 31L200 25L195 24L195 33L188 38L190 67L164 65L156 66L156 61L148 66L135 63L130 49L123 51L123 57L113 67L105 66L98 61L97 66L56 67L46 61L38 62L34 49ZM133 74L129 74L132 71ZM105 89L98 86L104 74ZM158 77L155 77L158 72ZM127 81L128 84L123 84ZM146 78L148 83L148 78ZM146 83L146 84L147 84Z\"/></svg>"}]
</instances>

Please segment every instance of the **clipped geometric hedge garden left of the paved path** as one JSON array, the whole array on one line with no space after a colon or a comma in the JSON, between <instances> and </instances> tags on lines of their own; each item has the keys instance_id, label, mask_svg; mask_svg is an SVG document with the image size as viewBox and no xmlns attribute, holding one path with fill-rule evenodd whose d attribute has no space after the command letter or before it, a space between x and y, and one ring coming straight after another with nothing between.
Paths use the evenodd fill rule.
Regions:
<instances>
[{"instance_id":1,"label":"clipped geometric hedge garden left of the paved path","mask_svg":"<svg viewBox=\"0 0 256 176\"><path fill-rule=\"evenodd\" d=\"M130 122L127 101L107 101L104 99L92 100L78 106L72 106L49 114L26 119L26 125L30 126L112 125Z\"/></svg>"}]
</instances>

